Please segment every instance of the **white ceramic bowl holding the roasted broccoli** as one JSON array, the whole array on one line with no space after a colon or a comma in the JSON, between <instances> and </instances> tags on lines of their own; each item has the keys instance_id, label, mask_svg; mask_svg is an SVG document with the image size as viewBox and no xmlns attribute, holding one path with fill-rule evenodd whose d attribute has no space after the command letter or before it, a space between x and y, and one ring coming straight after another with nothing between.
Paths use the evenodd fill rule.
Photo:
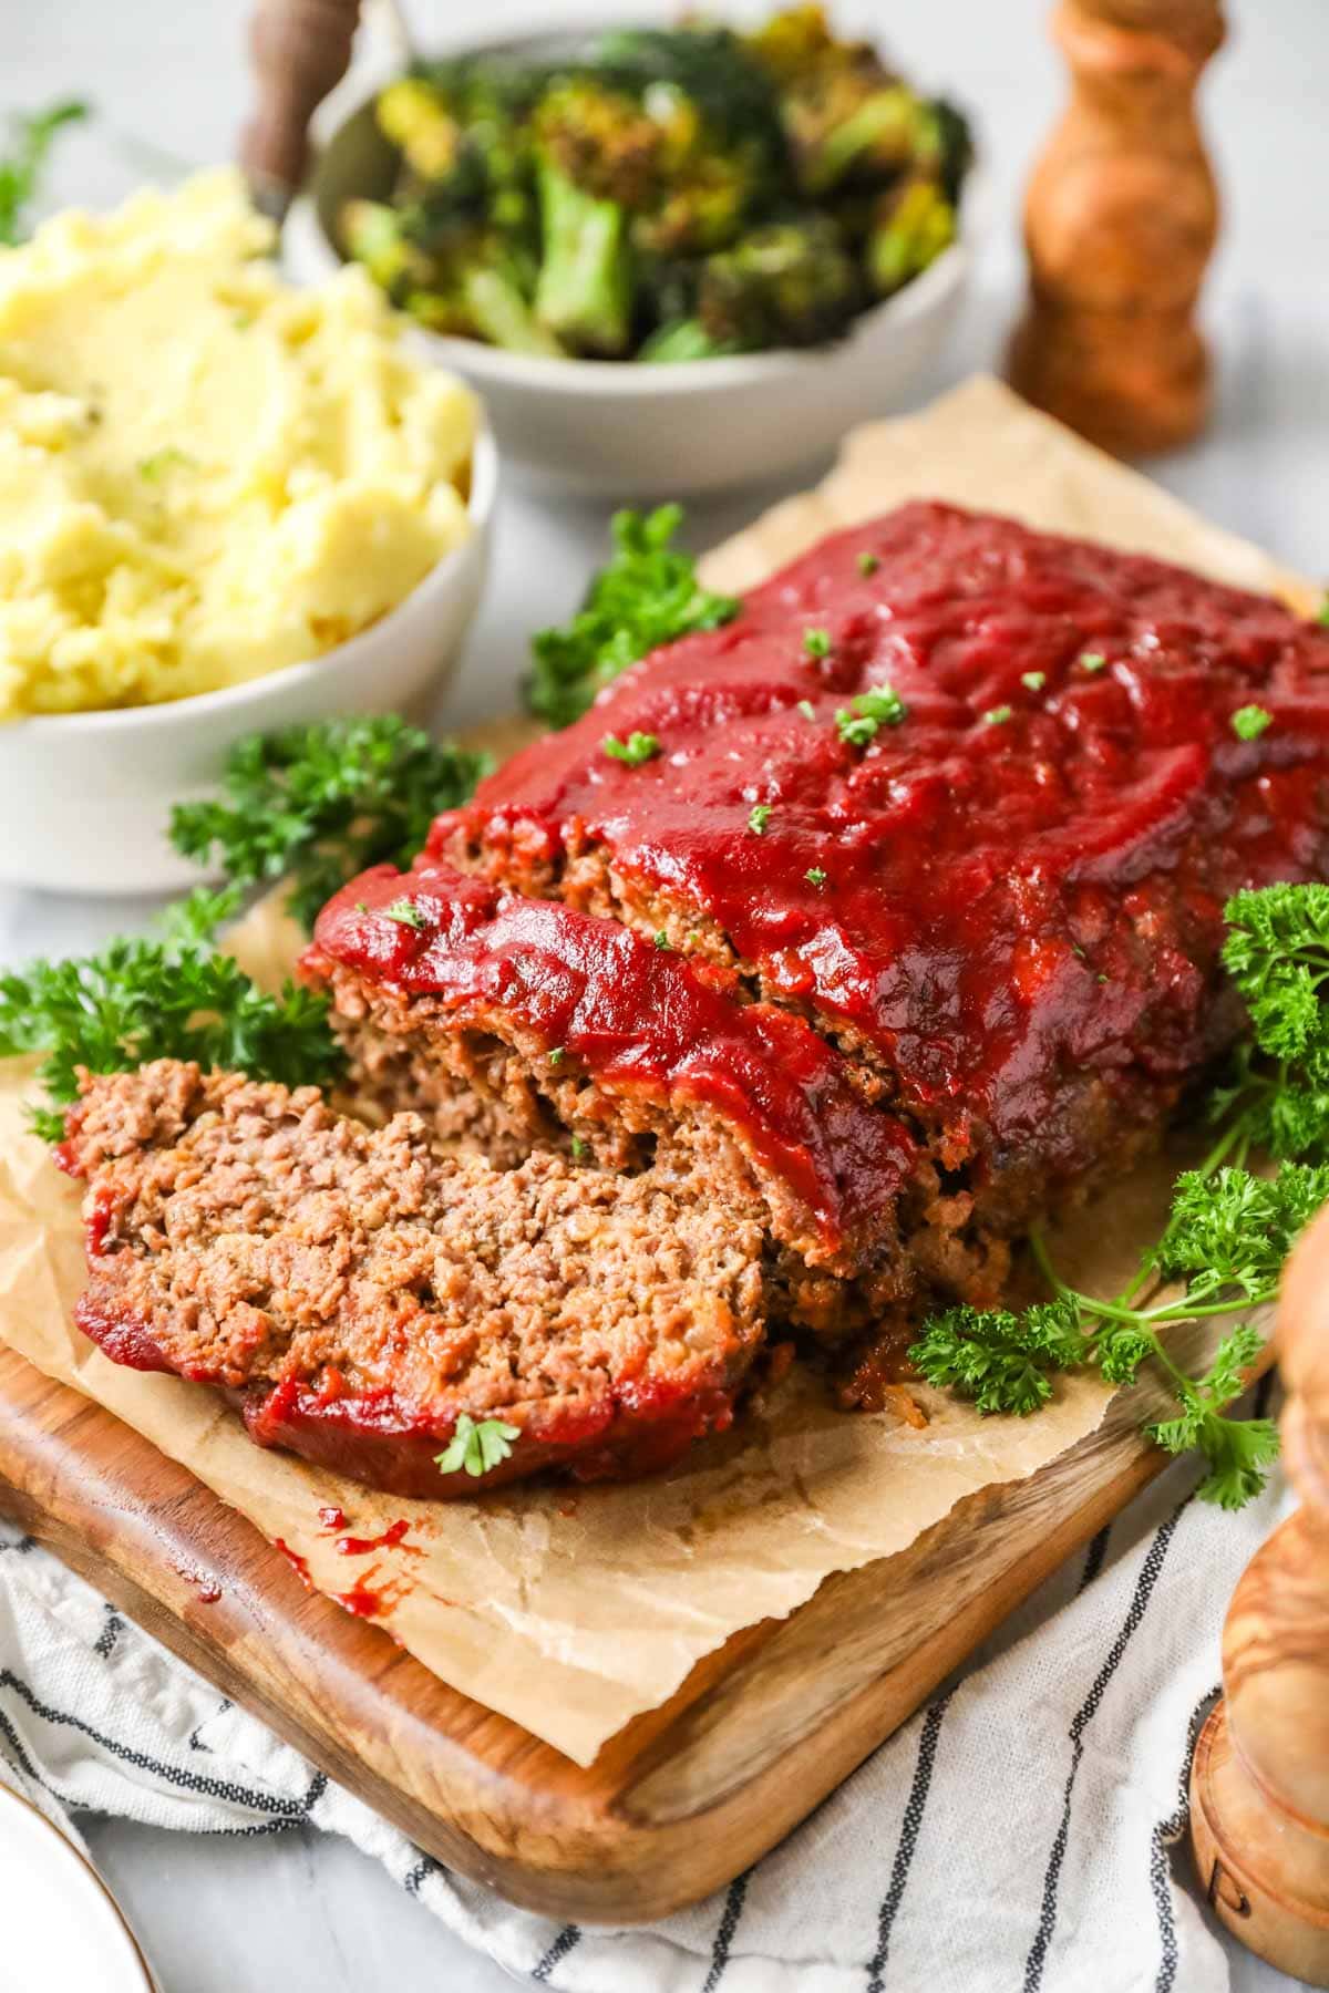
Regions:
<instances>
[{"instance_id":1,"label":"white ceramic bowl holding the roasted broccoli","mask_svg":"<svg viewBox=\"0 0 1329 1993\"><path fill-rule=\"evenodd\" d=\"M508 36L484 48L538 54L570 38ZM337 269L343 203L383 197L391 173L393 153L367 98L331 132L287 217L285 261L297 281L319 283ZM669 498L751 484L813 462L853 423L899 405L960 309L980 209L982 179L970 169L952 247L833 347L636 367L530 359L418 327L408 337L484 397L504 466L536 488Z\"/></svg>"}]
</instances>

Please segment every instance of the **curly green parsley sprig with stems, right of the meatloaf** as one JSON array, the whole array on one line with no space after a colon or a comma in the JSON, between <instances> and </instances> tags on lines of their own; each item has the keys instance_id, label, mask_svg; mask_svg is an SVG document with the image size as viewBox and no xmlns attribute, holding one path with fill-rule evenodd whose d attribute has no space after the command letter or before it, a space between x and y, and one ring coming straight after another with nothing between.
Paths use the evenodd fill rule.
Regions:
<instances>
[{"instance_id":1,"label":"curly green parsley sprig with stems, right of the meatloaf","mask_svg":"<svg viewBox=\"0 0 1329 1993\"><path fill-rule=\"evenodd\" d=\"M1084 1293L1060 1278L1034 1234L1050 1301L1020 1313L950 1307L909 1353L929 1383L970 1397L984 1413L1038 1411L1056 1371L1094 1365L1122 1385L1154 1361L1178 1413L1146 1427L1150 1439L1168 1453L1199 1449L1209 1467L1199 1495L1239 1509L1277 1455L1271 1419L1223 1415L1259 1357L1259 1327L1241 1319L1201 1377L1174 1361L1164 1331L1275 1301L1297 1234L1329 1202L1329 887L1237 893L1225 917L1223 963L1245 998L1251 1036L1213 1092L1221 1132L1199 1168L1178 1178L1168 1224L1136 1280L1114 1299ZM1277 1158L1275 1176L1245 1168L1253 1150ZM1180 1295L1148 1305L1150 1289L1178 1281Z\"/></svg>"}]
</instances>

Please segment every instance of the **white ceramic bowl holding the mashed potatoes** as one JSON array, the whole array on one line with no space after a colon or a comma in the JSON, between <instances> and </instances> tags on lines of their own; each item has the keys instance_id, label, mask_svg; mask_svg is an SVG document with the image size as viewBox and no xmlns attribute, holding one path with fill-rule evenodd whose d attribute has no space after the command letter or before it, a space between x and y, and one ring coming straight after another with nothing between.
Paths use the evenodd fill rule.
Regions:
<instances>
[{"instance_id":1,"label":"white ceramic bowl holding the mashed potatoes","mask_svg":"<svg viewBox=\"0 0 1329 1993\"><path fill-rule=\"evenodd\" d=\"M203 795L243 733L337 713L424 713L480 604L498 452L482 430L470 538L349 644L225 692L165 706L0 721L0 885L48 893L167 893L193 885L165 827Z\"/></svg>"}]
</instances>

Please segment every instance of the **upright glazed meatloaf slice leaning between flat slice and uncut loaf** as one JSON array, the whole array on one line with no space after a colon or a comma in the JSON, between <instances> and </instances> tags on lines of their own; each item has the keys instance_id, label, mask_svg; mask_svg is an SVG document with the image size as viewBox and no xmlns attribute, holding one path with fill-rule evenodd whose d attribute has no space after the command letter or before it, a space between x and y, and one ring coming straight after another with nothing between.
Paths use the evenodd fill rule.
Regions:
<instances>
[{"instance_id":1,"label":"upright glazed meatloaf slice leaning between flat slice and uncut loaf","mask_svg":"<svg viewBox=\"0 0 1329 1993\"><path fill-rule=\"evenodd\" d=\"M781 1311L819 1333L913 1293L911 1136L805 1018L733 975L428 863L339 893L303 973L333 991L379 1110L410 1100L508 1164L562 1148L705 1180L763 1222Z\"/></svg>"}]
</instances>

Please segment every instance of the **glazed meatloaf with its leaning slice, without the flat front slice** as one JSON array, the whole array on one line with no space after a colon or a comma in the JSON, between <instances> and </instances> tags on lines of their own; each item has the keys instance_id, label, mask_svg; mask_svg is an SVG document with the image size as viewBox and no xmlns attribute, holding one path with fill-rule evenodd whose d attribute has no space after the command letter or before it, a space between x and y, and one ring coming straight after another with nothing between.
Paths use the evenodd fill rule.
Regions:
<instances>
[{"instance_id":1,"label":"glazed meatloaf with its leaning slice, without the flat front slice","mask_svg":"<svg viewBox=\"0 0 1329 1993\"><path fill-rule=\"evenodd\" d=\"M1231 1042L1223 903L1329 875L1329 632L954 506L837 534L319 917L357 1082L498 1164L701 1174L831 1341Z\"/></svg>"}]
</instances>

